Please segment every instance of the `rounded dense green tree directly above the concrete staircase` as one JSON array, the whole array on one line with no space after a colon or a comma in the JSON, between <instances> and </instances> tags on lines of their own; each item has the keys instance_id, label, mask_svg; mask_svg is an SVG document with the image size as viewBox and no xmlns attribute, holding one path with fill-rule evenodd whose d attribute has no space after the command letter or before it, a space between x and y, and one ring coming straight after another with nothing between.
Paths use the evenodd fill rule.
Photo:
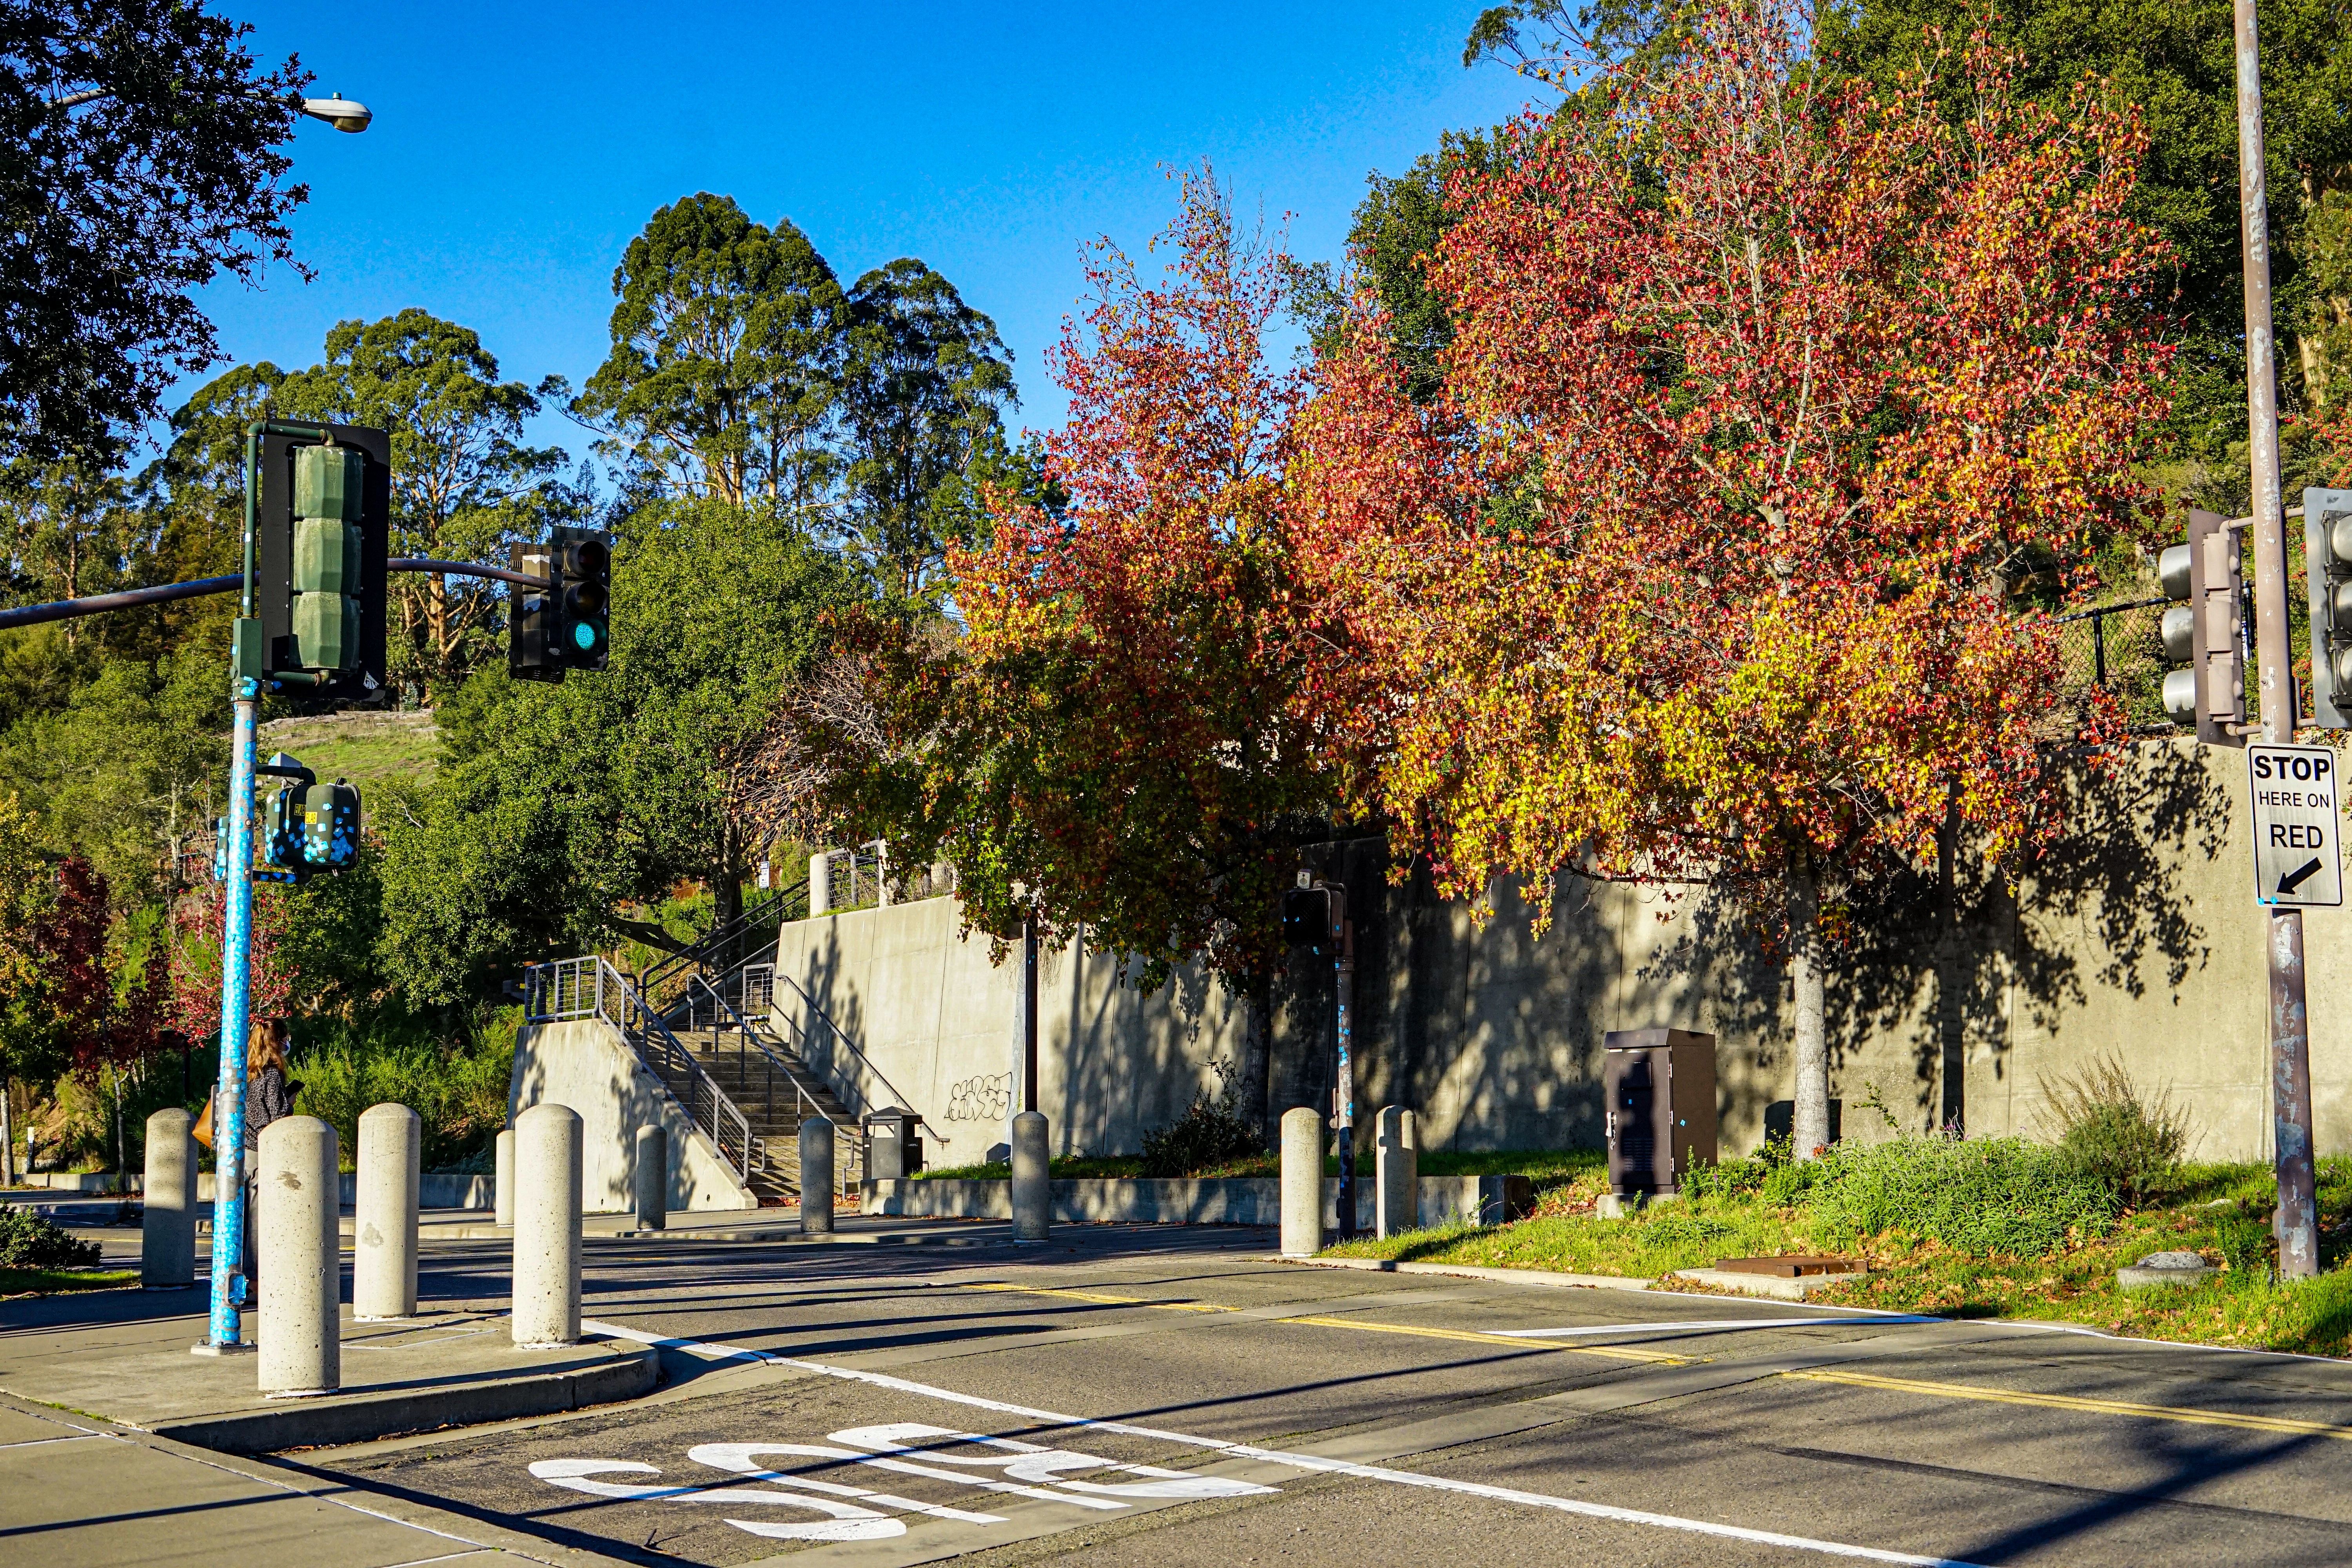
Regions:
<instances>
[{"instance_id":1,"label":"rounded dense green tree directly above the concrete staircase","mask_svg":"<svg viewBox=\"0 0 2352 1568\"><path fill-rule=\"evenodd\" d=\"M383 966L412 1004L616 933L680 879L741 907L760 741L828 651L856 574L781 505L666 501L621 527L612 668L562 686L489 668L440 712L430 790L379 809ZM668 938L663 938L668 940Z\"/></svg>"}]
</instances>

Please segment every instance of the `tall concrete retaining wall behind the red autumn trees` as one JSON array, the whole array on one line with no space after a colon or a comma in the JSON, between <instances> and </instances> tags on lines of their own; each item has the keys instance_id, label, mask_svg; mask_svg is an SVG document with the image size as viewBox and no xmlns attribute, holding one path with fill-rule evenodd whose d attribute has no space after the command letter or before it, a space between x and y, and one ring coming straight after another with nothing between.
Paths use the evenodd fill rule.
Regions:
<instances>
[{"instance_id":1,"label":"tall concrete retaining wall behind the red autumn trees","mask_svg":"<svg viewBox=\"0 0 2352 1568\"><path fill-rule=\"evenodd\" d=\"M1849 1138L1884 1138L1872 1088L1907 1131L1955 1112L1969 1133L2049 1131L2046 1081L2122 1056L2169 1088L2197 1159L2270 1157L2267 994L2253 900L2244 755L2136 743L2072 783L2070 837L2009 884L1964 844L1957 922L1917 875L1858 893L1830 954L1832 1093ZM1609 1030L1679 1025L1719 1041L1724 1154L1792 1093L1788 973L1769 931L1708 889L1559 877L1550 929L1512 886L1479 919L1416 870L1390 884L1378 839L1303 856L1350 889L1357 924L1359 1138L1385 1103L1418 1112L1425 1150L1592 1147ZM948 1133L931 1164L1004 1138L1014 966L955 940L929 900L786 926L776 966ZM2305 914L2312 1091L2321 1152L2352 1150L2352 912ZM1056 1152L1127 1154L1240 1044L1240 1006L1178 973L1141 997L1084 943L1042 964L1042 1110ZM1270 1119L1329 1105L1329 971L1275 992ZM1268 1133L1272 1126L1268 1126Z\"/></svg>"}]
</instances>

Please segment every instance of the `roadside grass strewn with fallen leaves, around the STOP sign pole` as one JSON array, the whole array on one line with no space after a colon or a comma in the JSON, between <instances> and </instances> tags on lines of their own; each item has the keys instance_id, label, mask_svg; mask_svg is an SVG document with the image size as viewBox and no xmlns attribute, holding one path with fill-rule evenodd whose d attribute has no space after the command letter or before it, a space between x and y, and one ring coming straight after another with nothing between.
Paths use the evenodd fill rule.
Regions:
<instances>
[{"instance_id":1,"label":"roadside grass strewn with fallen leaves, around the STOP sign pole","mask_svg":"<svg viewBox=\"0 0 2352 1568\"><path fill-rule=\"evenodd\" d=\"M1334 1246L1329 1255L1663 1276L1719 1258L1835 1251L1863 1258L1870 1279L1823 1291L1811 1298L1816 1302L2044 1319L2136 1338L2352 1356L2347 1157L2319 1161L2324 1272L2293 1284L2274 1279L2272 1173L2256 1164L2180 1166L2150 1206L2126 1208L2100 1234L2072 1234L2039 1258L1971 1253L1907 1229L1839 1237L1811 1206L1776 1206L1762 1194L1700 1197L1628 1220L1599 1220L1585 1192L1597 1194L1597 1187L1555 1190L1517 1225L1409 1232ZM2119 1267L2166 1251L2201 1253L2220 1272L2201 1286L2131 1293L2114 1286Z\"/></svg>"}]
</instances>

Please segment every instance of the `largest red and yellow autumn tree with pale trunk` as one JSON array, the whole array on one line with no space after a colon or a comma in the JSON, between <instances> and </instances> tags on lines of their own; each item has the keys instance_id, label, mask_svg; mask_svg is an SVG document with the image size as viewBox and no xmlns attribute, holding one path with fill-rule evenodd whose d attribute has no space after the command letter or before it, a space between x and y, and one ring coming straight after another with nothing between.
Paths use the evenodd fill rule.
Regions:
<instances>
[{"instance_id":1,"label":"largest red and yellow autumn tree with pale trunk","mask_svg":"<svg viewBox=\"0 0 2352 1568\"><path fill-rule=\"evenodd\" d=\"M1959 827L2018 863L2051 741L2117 733L2051 733L2056 628L2006 581L2084 590L2140 527L2171 350L2129 110L2023 103L1980 45L1832 85L1804 33L1719 2L1456 176L1444 388L1414 407L1367 310L1303 411L1291 524L1374 675L1376 804L1439 886L1743 898L1792 971L1809 1157L1823 900Z\"/></svg>"}]
</instances>

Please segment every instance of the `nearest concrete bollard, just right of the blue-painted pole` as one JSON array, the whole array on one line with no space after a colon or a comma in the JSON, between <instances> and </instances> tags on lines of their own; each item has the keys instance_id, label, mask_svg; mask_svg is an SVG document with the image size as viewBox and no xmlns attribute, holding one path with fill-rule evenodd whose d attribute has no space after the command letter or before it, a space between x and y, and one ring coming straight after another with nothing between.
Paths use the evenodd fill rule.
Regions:
<instances>
[{"instance_id":1,"label":"nearest concrete bollard, just right of the blue-painted pole","mask_svg":"<svg viewBox=\"0 0 2352 1568\"><path fill-rule=\"evenodd\" d=\"M261 1392L343 1387L341 1182L334 1128L280 1117L261 1128Z\"/></svg>"}]
</instances>

